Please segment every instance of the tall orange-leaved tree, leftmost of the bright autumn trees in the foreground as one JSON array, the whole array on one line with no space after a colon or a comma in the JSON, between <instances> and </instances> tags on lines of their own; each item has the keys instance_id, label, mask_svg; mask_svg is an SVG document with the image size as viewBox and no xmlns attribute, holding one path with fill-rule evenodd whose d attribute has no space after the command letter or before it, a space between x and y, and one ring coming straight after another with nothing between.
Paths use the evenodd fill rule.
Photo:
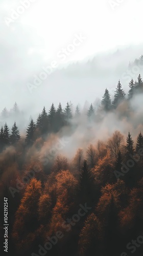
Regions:
<instances>
[{"instance_id":1,"label":"tall orange-leaved tree, leftmost of the bright autumn trees in the foreground","mask_svg":"<svg viewBox=\"0 0 143 256\"><path fill-rule=\"evenodd\" d=\"M16 211L12 237L17 251L28 252L35 238L38 227L38 203L41 196L41 182L33 178L27 185L25 194Z\"/></svg>"}]
</instances>

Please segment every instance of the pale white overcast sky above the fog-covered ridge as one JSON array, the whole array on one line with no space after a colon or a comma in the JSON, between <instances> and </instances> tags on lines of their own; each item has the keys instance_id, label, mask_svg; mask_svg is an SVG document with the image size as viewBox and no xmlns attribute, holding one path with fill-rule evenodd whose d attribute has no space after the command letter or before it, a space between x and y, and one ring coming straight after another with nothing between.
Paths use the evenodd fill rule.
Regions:
<instances>
[{"instance_id":1,"label":"pale white overcast sky above the fog-covered ridge","mask_svg":"<svg viewBox=\"0 0 143 256\"><path fill-rule=\"evenodd\" d=\"M88 60L96 54L113 53L125 47L140 45L141 48L142 7L140 0L1 0L1 110L5 106L10 108L15 101L27 109L30 103L40 102L41 108L46 100L45 94L50 95L48 106L54 100L57 103L59 98L63 104L67 100L74 101L70 89L63 93L62 84L66 82L67 87L71 88L74 79L76 83L79 82L80 91L83 86L81 80L78 81L76 71L72 79L66 70L57 79L51 76L49 84L52 84L52 89L44 88L46 81L43 81L43 86L39 87L41 89L38 88L32 95L27 84L33 84L34 77L53 61L54 67L57 63L58 68L62 66L66 69L70 61ZM136 55L139 57L138 52ZM129 56L127 62L133 59L131 54ZM114 80L112 87L116 82ZM86 100L88 83L90 80L87 86L84 84L81 102ZM60 87L57 98L54 92ZM91 94L93 91L97 94L98 88L91 89Z\"/></svg>"}]
</instances>

